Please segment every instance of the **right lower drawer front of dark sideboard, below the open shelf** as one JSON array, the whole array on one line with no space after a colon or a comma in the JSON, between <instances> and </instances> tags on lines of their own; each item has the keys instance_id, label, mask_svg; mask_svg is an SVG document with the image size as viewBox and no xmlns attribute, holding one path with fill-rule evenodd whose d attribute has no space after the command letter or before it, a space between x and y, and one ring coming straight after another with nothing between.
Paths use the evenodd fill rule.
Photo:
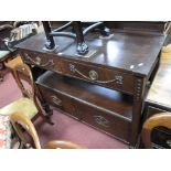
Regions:
<instances>
[{"instance_id":1,"label":"right lower drawer front of dark sideboard, below the open shelf","mask_svg":"<svg viewBox=\"0 0 171 171\"><path fill-rule=\"evenodd\" d=\"M79 101L74 103L74 106L76 113L82 116L83 122L129 142L130 122L128 120Z\"/></svg>"}]
</instances>

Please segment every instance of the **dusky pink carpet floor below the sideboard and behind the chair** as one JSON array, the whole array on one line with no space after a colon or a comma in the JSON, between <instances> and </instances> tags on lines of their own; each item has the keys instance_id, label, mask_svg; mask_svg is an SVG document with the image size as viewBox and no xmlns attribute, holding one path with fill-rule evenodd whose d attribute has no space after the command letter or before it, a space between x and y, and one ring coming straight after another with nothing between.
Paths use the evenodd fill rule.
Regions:
<instances>
[{"instance_id":1,"label":"dusky pink carpet floor below the sideboard and behind the chair","mask_svg":"<svg viewBox=\"0 0 171 171\"><path fill-rule=\"evenodd\" d=\"M13 101L21 96L20 90L10 73L7 73L0 83L0 107ZM88 149L126 149L127 145L114 139L67 115L54 111L54 125L44 122L41 118L34 125L38 130L42 148L49 140L64 139L79 143Z\"/></svg>"}]
</instances>

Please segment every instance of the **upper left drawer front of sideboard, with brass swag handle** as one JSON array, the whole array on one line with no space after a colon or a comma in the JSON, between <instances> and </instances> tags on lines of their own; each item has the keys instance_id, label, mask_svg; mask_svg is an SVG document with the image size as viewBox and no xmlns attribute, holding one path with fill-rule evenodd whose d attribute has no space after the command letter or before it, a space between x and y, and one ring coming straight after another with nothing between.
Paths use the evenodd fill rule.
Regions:
<instances>
[{"instance_id":1,"label":"upper left drawer front of sideboard, with brass swag handle","mask_svg":"<svg viewBox=\"0 0 171 171\"><path fill-rule=\"evenodd\" d=\"M36 65L39 67L43 67L45 70L51 70L54 72L61 73L60 58L53 57L51 55L44 55L35 52L22 52L22 56L25 63L31 65Z\"/></svg>"}]
</instances>

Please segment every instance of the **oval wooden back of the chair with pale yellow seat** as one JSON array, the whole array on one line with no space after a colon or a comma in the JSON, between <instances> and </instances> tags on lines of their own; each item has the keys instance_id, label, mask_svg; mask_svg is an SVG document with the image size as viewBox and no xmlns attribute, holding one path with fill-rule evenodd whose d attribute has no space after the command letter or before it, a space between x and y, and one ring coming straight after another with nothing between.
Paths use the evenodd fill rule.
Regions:
<instances>
[{"instance_id":1,"label":"oval wooden back of the chair with pale yellow seat","mask_svg":"<svg viewBox=\"0 0 171 171\"><path fill-rule=\"evenodd\" d=\"M21 89L22 95L24 97L35 100L35 86L30 67L26 64L21 63L14 66L13 72L14 72L14 79L19 88ZM25 81L30 85L29 88L26 84L24 84Z\"/></svg>"}]
</instances>

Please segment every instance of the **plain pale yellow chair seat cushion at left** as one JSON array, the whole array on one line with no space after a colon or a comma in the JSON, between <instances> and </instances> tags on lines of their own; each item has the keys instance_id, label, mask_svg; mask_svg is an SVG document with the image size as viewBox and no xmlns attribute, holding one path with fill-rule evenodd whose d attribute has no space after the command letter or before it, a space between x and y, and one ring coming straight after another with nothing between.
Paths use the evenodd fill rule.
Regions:
<instances>
[{"instance_id":1,"label":"plain pale yellow chair seat cushion at left","mask_svg":"<svg viewBox=\"0 0 171 171\"><path fill-rule=\"evenodd\" d=\"M13 113L22 113L32 119L38 114L38 109L33 100L22 97L0 109L0 115L10 116Z\"/></svg>"}]
</instances>

